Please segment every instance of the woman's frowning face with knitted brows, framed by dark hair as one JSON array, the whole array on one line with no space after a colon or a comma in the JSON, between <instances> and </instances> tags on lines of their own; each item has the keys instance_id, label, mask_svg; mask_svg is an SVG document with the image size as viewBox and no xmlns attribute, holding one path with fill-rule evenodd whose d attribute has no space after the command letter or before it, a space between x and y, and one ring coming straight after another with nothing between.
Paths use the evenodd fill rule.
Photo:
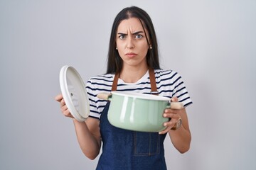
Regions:
<instances>
[{"instance_id":1,"label":"woman's frowning face with knitted brows, framed by dark hair","mask_svg":"<svg viewBox=\"0 0 256 170\"><path fill-rule=\"evenodd\" d=\"M144 33L138 18L129 18L119 23L116 42L117 50L123 60L123 67L146 66L146 53L149 49L146 36L149 37L147 30Z\"/></svg>"}]
</instances>

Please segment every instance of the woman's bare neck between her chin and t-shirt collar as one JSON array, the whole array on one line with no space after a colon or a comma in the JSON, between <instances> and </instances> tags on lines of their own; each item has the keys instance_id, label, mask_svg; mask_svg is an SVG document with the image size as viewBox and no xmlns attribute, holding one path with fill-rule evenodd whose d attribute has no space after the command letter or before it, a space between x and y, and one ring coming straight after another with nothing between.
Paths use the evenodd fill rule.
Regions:
<instances>
[{"instance_id":1,"label":"woman's bare neck between her chin and t-shirt collar","mask_svg":"<svg viewBox=\"0 0 256 170\"><path fill-rule=\"evenodd\" d=\"M119 78L122 79L126 83L135 83L139 79L141 79L144 74L146 74L146 71L148 70L148 67L123 67Z\"/></svg>"}]
</instances>

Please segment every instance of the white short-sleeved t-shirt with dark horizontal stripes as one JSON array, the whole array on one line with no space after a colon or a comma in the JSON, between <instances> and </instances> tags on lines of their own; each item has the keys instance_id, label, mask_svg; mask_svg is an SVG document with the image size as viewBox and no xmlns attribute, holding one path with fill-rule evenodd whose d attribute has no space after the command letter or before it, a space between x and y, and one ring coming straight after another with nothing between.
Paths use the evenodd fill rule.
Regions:
<instances>
[{"instance_id":1,"label":"white short-sleeved t-shirt with dark horizontal stripes","mask_svg":"<svg viewBox=\"0 0 256 170\"><path fill-rule=\"evenodd\" d=\"M172 70L155 69L156 87L159 96L172 98L178 97L178 101L186 107L192 103L186 86L181 76ZM97 98L99 93L110 93L114 74L104 74L92 77L87 81L86 90L90 102L90 117L100 118L100 113L107 104L107 101ZM125 83L118 79L117 91L132 91L142 94L151 94L151 85L149 81L149 72L139 79L136 83Z\"/></svg>"}]
</instances>

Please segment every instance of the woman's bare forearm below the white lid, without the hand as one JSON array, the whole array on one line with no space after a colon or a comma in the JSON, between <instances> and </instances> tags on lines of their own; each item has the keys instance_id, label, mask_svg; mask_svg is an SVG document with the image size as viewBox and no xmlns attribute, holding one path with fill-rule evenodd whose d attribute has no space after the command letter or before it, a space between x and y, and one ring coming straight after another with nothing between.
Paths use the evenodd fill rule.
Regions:
<instances>
[{"instance_id":1,"label":"woman's bare forearm below the white lid, without the hand","mask_svg":"<svg viewBox=\"0 0 256 170\"><path fill-rule=\"evenodd\" d=\"M89 159L95 159L100 152L101 140L99 136L93 135L85 122L73 120L78 143L82 152Z\"/></svg>"}]
</instances>

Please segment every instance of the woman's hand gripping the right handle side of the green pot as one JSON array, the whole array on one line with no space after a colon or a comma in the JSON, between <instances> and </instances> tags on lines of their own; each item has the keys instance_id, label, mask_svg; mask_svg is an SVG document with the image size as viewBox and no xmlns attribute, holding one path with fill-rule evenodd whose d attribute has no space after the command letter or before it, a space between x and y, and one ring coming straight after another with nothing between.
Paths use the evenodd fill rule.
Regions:
<instances>
[{"instance_id":1,"label":"woman's hand gripping the right handle side of the green pot","mask_svg":"<svg viewBox=\"0 0 256 170\"><path fill-rule=\"evenodd\" d=\"M177 97L171 98L171 101L177 102L178 98ZM166 108L164 110L163 116L164 118L170 118L170 120L169 122L164 123L164 126L166 127L166 129L159 132L159 134L164 134L166 132L169 132L171 128L174 128L174 125L176 125L176 123L178 122L178 119L181 118L180 113L181 113L180 109Z\"/></svg>"}]
</instances>

